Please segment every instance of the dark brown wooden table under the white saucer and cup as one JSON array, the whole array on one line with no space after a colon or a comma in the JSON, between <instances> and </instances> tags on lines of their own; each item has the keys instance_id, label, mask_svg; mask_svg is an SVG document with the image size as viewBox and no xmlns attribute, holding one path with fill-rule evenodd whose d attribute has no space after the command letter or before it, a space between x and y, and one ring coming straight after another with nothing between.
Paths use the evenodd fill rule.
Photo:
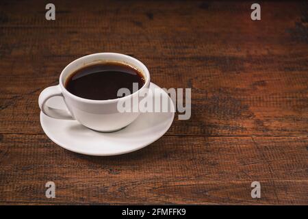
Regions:
<instances>
[{"instance_id":1,"label":"dark brown wooden table under the white saucer and cup","mask_svg":"<svg viewBox=\"0 0 308 219\"><path fill-rule=\"evenodd\" d=\"M0 3L0 204L308 204L308 8L300 2ZM90 157L40 127L38 95L77 57L138 58L192 88L190 120L146 148ZM45 196L45 183L56 198ZM251 198L251 183L261 198Z\"/></svg>"}]
</instances>

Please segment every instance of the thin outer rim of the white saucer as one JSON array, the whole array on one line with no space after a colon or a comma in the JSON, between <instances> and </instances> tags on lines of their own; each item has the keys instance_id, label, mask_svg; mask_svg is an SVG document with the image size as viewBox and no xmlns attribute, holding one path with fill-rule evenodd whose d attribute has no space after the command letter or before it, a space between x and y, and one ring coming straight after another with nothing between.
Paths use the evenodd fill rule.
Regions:
<instances>
[{"instance_id":1,"label":"thin outer rim of the white saucer","mask_svg":"<svg viewBox=\"0 0 308 219\"><path fill-rule=\"evenodd\" d=\"M151 88L151 84L153 84L153 86L157 86L155 83L153 82L150 82L150 88ZM166 93L166 91L164 89L162 89L161 87L157 86L157 88L160 88L167 96L168 98L170 99L172 105L173 105L173 109L175 110L175 104L173 103L172 99L170 98L170 96ZM55 140L55 138L51 137L53 135L51 135L49 133L49 131L47 131L47 127L43 125L42 123L42 116L46 116L42 113L42 111L40 111L40 126L42 127L42 130L44 131L44 133L46 134L46 136L52 141L54 142L55 144L57 144L58 146L61 146L63 149L66 149L68 151L72 151L74 153L79 153L79 154L83 154L83 155L90 155L90 156L99 156L99 157L107 157L107 156L115 156L115 155L123 155L123 154L126 154L126 153L131 153L133 151L138 151L140 149L143 149L144 147L146 146L149 146L150 144L152 144L153 142L159 140L159 138L162 138L162 136L164 136L164 134L170 129L172 123L173 123L173 120L175 119L175 112L172 112L172 120L170 120L170 123L168 125L166 125L166 131L164 131L164 133L162 133L161 135L157 136L157 138L155 138L154 140L152 140L151 142L147 142L146 144L142 144L141 146L138 146L136 148L133 148L133 149L130 149L130 150L127 150L127 151L119 151L119 152L116 152L116 153L91 153L91 152L85 152L85 151L79 151L78 149L71 149L70 147L68 148L67 146L65 146L64 144L60 144L59 142L57 142L57 140ZM55 119L55 118L54 118ZM138 118L137 118L138 120ZM125 127L126 128L126 127ZM124 128L124 129L125 129ZM88 127L87 127L88 129ZM94 130L92 130L94 131ZM49 134L48 134L49 133Z\"/></svg>"}]
</instances>

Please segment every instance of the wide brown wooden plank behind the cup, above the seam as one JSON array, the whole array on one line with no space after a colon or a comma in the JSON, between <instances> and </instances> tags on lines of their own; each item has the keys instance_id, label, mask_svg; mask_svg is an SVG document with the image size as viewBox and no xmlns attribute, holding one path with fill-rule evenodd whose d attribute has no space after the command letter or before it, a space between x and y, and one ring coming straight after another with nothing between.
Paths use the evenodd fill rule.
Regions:
<instances>
[{"instance_id":1,"label":"wide brown wooden plank behind the cup, above the seam","mask_svg":"<svg viewBox=\"0 0 308 219\"><path fill-rule=\"evenodd\" d=\"M40 91L75 58L116 51L144 62L159 86L192 88L192 117L176 117L168 135L307 136L303 5L264 3L252 22L245 2L143 4L55 1L53 22L40 1L3 3L0 133L43 133Z\"/></svg>"}]
</instances>

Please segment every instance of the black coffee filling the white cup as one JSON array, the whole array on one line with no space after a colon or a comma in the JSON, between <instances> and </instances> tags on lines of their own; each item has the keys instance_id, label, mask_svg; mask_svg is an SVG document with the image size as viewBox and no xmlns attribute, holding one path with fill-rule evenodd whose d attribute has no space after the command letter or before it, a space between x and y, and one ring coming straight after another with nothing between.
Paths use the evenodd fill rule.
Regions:
<instances>
[{"instance_id":1,"label":"black coffee filling the white cup","mask_svg":"<svg viewBox=\"0 0 308 219\"><path fill-rule=\"evenodd\" d=\"M78 69L66 79L65 87L85 99L108 100L117 99L120 88L128 88L132 94L133 83L138 83L138 89L144 85L144 77L136 68L107 62Z\"/></svg>"}]
</instances>

